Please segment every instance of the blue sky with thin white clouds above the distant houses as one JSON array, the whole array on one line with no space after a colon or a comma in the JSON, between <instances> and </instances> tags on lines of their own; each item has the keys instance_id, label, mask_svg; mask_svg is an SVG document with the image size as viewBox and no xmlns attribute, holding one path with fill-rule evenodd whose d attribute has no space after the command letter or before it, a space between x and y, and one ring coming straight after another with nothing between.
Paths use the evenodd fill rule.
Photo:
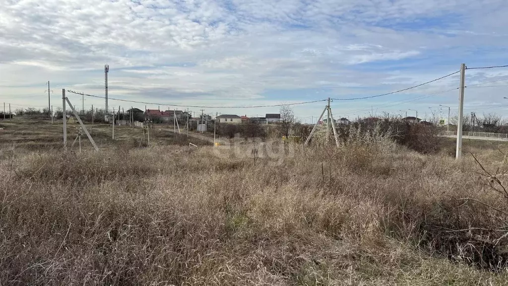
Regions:
<instances>
[{"instance_id":1,"label":"blue sky with thin white clouds above the distant houses","mask_svg":"<svg viewBox=\"0 0 508 286\"><path fill-rule=\"evenodd\" d=\"M508 65L505 0L0 0L0 102L61 106L61 90L149 109L264 116L276 105L384 94ZM495 82L491 82L495 81ZM491 83L486 83L491 82ZM508 68L466 70L464 112L508 117ZM495 85L495 87L492 87ZM459 74L406 92L332 100L334 118L448 117ZM78 109L104 100L67 96ZM294 105L315 122L326 102ZM110 100L140 109L145 104ZM1 107L0 107L1 108ZM201 110L203 109L203 111Z\"/></svg>"}]
</instances>

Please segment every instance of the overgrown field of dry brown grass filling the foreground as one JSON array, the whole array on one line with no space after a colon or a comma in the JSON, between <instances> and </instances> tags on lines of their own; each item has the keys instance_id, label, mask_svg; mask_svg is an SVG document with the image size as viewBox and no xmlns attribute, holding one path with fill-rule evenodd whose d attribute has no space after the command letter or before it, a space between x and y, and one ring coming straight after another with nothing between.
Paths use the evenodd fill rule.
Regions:
<instances>
[{"instance_id":1,"label":"overgrown field of dry brown grass filling the foreground","mask_svg":"<svg viewBox=\"0 0 508 286\"><path fill-rule=\"evenodd\" d=\"M60 124L0 128L2 286L508 284L498 142L233 152L102 125L78 153Z\"/></svg>"}]
</instances>

